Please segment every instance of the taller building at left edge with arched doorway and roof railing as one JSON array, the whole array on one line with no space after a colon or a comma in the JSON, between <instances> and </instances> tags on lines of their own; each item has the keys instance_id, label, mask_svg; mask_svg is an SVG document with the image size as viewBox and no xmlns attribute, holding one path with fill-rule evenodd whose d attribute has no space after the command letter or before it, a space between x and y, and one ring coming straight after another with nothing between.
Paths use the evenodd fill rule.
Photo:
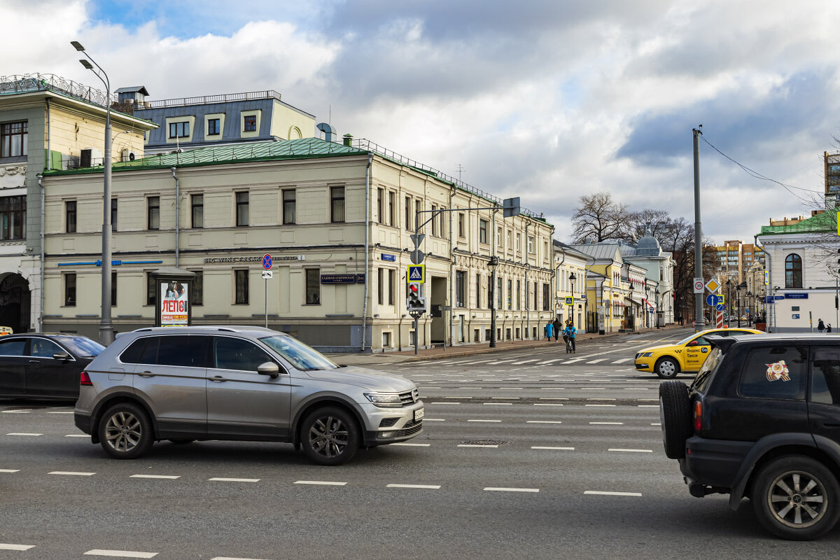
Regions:
<instances>
[{"instance_id":1,"label":"taller building at left edge with arched doorway and roof railing","mask_svg":"<svg viewBox=\"0 0 840 560\"><path fill-rule=\"evenodd\" d=\"M0 78L0 326L41 330L39 175L82 164L99 165L101 173L109 101L116 100L60 76ZM117 111L111 120L113 153L142 155L144 133L155 124ZM101 231L102 181L97 188L99 213L85 227Z\"/></svg>"}]
</instances>

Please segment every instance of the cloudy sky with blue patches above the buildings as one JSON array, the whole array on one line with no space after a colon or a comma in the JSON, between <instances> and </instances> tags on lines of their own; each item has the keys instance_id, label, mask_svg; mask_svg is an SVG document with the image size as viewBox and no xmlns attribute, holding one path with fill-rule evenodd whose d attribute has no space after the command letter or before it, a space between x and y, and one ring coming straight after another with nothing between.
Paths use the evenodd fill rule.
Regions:
<instances>
[{"instance_id":1,"label":"cloudy sky with blue patches above the buildings","mask_svg":"<svg viewBox=\"0 0 840 560\"><path fill-rule=\"evenodd\" d=\"M0 76L151 99L273 89L352 133L499 197L568 241L581 194L752 241L807 215L840 150L840 3L826 0L0 0ZM732 160L789 186L755 178Z\"/></svg>"}]
</instances>

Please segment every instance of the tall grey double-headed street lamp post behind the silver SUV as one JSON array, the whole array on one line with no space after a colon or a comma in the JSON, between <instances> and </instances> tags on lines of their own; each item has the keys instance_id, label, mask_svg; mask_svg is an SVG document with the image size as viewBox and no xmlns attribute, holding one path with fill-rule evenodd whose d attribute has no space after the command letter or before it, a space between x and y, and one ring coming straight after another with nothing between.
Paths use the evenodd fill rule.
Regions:
<instances>
[{"instance_id":1,"label":"tall grey double-headed street lamp post behind the silver SUV","mask_svg":"<svg viewBox=\"0 0 840 560\"><path fill-rule=\"evenodd\" d=\"M108 344L113 343L113 324L111 322L111 82L108 80L108 74L102 70L102 66L98 65L97 61L85 52L85 48L78 41L71 41L70 44L97 66L99 72L93 68L91 62L85 59L79 60L82 66L92 71L105 84L105 108L107 112L105 116L104 161L102 162L105 167L105 177L102 188L102 317L99 320L99 342L108 346Z\"/></svg>"}]
</instances>

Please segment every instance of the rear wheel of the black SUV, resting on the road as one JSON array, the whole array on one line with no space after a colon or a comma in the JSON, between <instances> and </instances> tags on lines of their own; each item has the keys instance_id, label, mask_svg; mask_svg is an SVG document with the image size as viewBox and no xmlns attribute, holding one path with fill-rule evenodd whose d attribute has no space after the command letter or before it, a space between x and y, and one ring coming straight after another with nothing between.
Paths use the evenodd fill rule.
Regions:
<instances>
[{"instance_id":1,"label":"rear wheel of the black SUV, resting on the road","mask_svg":"<svg viewBox=\"0 0 840 560\"><path fill-rule=\"evenodd\" d=\"M752 498L761 525L794 541L821 536L840 518L837 478L805 455L788 455L765 465L753 483Z\"/></svg>"}]
</instances>

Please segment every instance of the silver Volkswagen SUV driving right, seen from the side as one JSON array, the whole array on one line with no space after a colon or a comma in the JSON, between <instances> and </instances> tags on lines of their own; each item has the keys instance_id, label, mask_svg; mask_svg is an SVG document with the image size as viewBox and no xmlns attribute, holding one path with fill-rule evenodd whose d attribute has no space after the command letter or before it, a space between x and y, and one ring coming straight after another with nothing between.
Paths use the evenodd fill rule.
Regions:
<instances>
[{"instance_id":1,"label":"silver Volkswagen SUV driving right, seen from the side","mask_svg":"<svg viewBox=\"0 0 840 560\"><path fill-rule=\"evenodd\" d=\"M291 442L337 465L423 432L410 380L334 364L262 327L156 327L119 335L81 373L76 427L113 458L152 443Z\"/></svg>"}]
</instances>

